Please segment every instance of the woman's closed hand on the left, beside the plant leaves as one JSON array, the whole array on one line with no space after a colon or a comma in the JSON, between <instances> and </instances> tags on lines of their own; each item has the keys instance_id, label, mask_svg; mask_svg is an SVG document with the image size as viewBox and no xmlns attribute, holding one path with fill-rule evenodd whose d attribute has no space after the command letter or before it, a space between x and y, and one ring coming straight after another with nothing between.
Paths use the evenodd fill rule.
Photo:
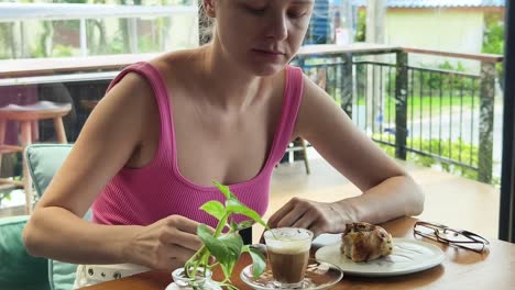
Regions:
<instances>
[{"instance_id":1,"label":"woman's closed hand on the left, beside the plant leaves","mask_svg":"<svg viewBox=\"0 0 515 290\"><path fill-rule=\"evenodd\" d=\"M152 269L174 270L200 248L199 223L180 215L171 215L141 227L123 250L125 260Z\"/></svg>"}]
</instances>

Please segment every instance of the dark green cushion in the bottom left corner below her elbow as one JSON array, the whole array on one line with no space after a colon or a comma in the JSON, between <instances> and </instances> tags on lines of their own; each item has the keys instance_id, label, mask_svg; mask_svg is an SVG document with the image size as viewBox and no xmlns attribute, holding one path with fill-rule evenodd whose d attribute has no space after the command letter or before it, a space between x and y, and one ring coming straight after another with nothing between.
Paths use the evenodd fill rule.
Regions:
<instances>
[{"instance_id":1,"label":"dark green cushion in the bottom left corner below her elbow","mask_svg":"<svg viewBox=\"0 0 515 290\"><path fill-rule=\"evenodd\" d=\"M47 290L47 261L26 253L22 232L29 215L0 219L0 289Z\"/></svg>"}]
</instances>

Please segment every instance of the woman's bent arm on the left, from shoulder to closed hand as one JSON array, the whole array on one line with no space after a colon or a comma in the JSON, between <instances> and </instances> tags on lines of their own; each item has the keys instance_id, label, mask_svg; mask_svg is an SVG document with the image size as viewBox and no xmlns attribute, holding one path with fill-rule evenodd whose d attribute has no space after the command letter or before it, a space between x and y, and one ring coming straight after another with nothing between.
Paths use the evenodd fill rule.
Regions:
<instances>
[{"instance_id":1,"label":"woman's bent arm on the left, from shoulder to closed hand","mask_svg":"<svg viewBox=\"0 0 515 290\"><path fill-rule=\"evenodd\" d=\"M128 74L107 93L37 202L23 233L29 253L76 264L135 263L167 269L173 264L165 252L184 255L180 263L201 246L195 235L197 223L182 216L145 227L81 219L140 148L153 130L150 126L158 124L158 115L152 89L135 74Z\"/></svg>"}]
</instances>

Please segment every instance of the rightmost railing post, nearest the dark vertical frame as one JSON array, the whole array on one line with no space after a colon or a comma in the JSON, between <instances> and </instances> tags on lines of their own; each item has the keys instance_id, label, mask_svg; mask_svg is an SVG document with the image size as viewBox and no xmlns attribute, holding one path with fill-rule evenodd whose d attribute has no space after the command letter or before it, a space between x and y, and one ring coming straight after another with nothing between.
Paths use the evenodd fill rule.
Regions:
<instances>
[{"instance_id":1,"label":"rightmost railing post, nearest the dark vertical frame","mask_svg":"<svg viewBox=\"0 0 515 290\"><path fill-rule=\"evenodd\" d=\"M485 183L490 183L492 181L495 74L494 63L481 63L478 180Z\"/></svg>"}]
</instances>

